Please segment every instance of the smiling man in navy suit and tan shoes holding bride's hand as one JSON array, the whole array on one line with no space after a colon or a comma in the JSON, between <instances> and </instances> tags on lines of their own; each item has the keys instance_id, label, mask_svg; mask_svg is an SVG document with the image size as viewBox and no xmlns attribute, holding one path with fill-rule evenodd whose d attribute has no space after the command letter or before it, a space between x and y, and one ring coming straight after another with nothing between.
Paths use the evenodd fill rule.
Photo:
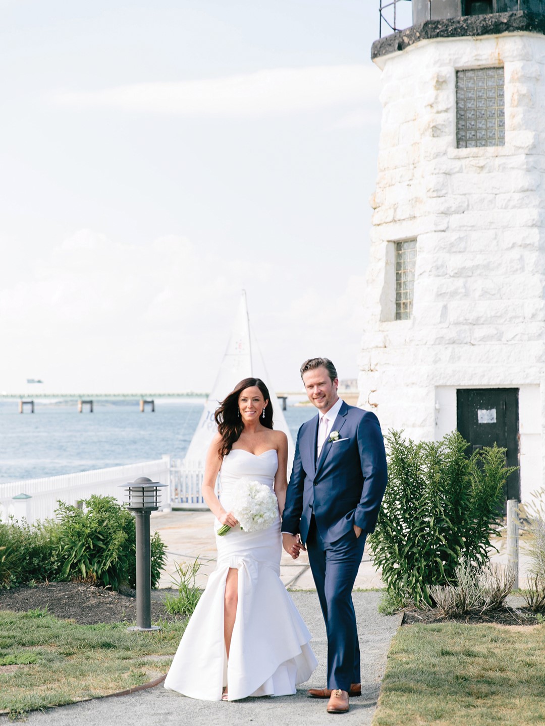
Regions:
<instances>
[{"instance_id":1,"label":"smiling man in navy suit and tan shoes holding bride's hand","mask_svg":"<svg viewBox=\"0 0 545 726\"><path fill-rule=\"evenodd\" d=\"M301 367L310 402L318 409L299 428L283 512L283 547L294 559L308 549L328 638L327 710L346 713L360 696L360 647L352 587L366 535L375 528L386 488L384 441L374 413L337 396L339 379L327 358Z\"/></svg>"}]
</instances>

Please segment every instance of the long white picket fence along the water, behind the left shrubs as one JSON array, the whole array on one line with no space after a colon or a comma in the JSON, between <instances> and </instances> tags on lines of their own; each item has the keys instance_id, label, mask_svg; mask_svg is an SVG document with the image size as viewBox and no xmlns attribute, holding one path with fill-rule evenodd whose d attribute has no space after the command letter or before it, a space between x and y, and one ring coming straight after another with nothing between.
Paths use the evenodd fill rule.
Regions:
<instances>
[{"instance_id":1,"label":"long white picket fence along the water, behind the left shrubs","mask_svg":"<svg viewBox=\"0 0 545 726\"><path fill-rule=\"evenodd\" d=\"M81 471L76 474L62 474L41 479L25 479L0 484L0 521L10 516L17 521L23 518L29 524L55 516L57 502L76 505L81 499L92 494L114 497L123 502L126 492L120 486L134 481L139 476L147 476L161 484L171 484L171 457L163 456L156 461L114 466L108 469ZM169 490L163 490L163 505L169 505ZM14 499L15 497L15 499Z\"/></svg>"}]
</instances>

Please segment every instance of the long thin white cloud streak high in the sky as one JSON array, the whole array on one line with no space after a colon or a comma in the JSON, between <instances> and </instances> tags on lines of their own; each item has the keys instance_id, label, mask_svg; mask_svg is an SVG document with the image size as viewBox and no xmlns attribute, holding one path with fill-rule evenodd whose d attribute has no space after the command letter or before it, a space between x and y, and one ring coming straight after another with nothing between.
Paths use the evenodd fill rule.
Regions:
<instances>
[{"instance_id":1,"label":"long thin white cloud streak high in the sky","mask_svg":"<svg viewBox=\"0 0 545 726\"><path fill-rule=\"evenodd\" d=\"M95 91L57 91L70 107L113 108L132 113L248 118L362 105L379 94L373 66L269 68L225 78L131 83Z\"/></svg>"}]
</instances>

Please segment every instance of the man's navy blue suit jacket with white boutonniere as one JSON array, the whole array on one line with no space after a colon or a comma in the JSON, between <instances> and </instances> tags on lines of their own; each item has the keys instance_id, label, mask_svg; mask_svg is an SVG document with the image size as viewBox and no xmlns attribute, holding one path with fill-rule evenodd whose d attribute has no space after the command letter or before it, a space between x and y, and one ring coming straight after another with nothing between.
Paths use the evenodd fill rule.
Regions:
<instances>
[{"instance_id":1,"label":"man's navy blue suit jacket with white boutonniere","mask_svg":"<svg viewBox=\"0 0 545 726\"><path fill-rule=\"evenodd\" d=\"M316 461L318 420L319 414L297 434L282 531L299 533L306 542L314 514L326 542L335 542L355 524L369 534L375 529L387 482L379 420L343 401L331 429L339 433L339 440L326 441Z\"/></svg>"}]
</instances>

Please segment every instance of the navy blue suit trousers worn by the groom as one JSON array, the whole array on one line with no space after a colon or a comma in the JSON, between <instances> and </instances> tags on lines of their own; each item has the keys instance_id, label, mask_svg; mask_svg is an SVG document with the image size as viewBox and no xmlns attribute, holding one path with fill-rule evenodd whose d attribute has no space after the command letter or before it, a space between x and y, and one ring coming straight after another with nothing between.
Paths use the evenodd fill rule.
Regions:
<instances>
[{"instance_id":1,"label":"navy blue suit trousers worn by the groom","mask_svg":"<svg viewBox=\"0 0 545 726\"><path fill-rule=\"evenodd\" d=\"M326 622L328 638L328 688L350 690L360 683L360 643L352 587L363 557L366 534L356 537L350 529L336 542L324 542L314 516L307 537L310 569Z\"/></svg>"}]
</instances>

